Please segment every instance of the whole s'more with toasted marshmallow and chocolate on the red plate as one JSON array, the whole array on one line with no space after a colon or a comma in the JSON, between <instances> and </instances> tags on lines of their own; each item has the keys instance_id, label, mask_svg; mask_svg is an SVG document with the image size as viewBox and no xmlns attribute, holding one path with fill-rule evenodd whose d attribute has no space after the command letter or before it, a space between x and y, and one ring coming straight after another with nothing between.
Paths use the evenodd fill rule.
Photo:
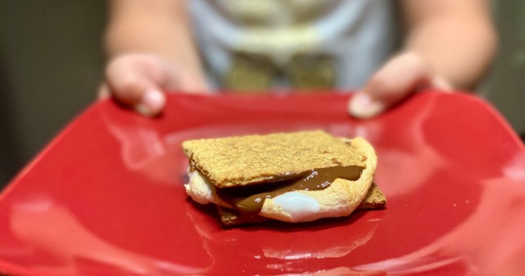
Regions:
<instances>
[{"instance_id":1,"label":"whole s'more with toasted marshmallow and chocolate on the red plate","mask_svg":"<svg viewBox=\"0 0 525 276\"><path fill-rule=\"evenodd\" d=\"M373 181L374 148L363 138L301 131L189 140L182 148L188 196L216 205L225 225L307 222L386 205Z\"/></svg>"}]
</instances>

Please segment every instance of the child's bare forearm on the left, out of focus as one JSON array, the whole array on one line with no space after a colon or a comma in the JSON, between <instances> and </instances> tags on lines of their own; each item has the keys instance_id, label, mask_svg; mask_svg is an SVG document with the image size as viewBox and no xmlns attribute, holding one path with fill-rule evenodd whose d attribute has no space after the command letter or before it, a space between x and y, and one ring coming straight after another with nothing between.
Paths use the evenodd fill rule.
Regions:
<instances>
[{"instance_id":1,"label":"child's bare forearm on the left, out of focus","mask_svg":"<svg viewBox=\"0 0 525 276\"><path fill-rule=\"evenodd\" d=\"M152 53L203 79L184 6L182 0L113 0L105 43L108 58Z\"/></svg>"}]
</instances>

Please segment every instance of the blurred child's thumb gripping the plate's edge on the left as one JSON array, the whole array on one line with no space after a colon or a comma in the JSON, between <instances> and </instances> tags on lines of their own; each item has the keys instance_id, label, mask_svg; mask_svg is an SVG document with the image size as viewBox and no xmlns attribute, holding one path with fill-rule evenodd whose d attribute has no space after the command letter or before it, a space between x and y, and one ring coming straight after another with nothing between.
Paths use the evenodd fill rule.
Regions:
<instances>
[{"instance_id":1,"label":"blurred child's thumb gripping the plate's edge on the left","mask_svg":"<svg viewBox=\"0 0 525 276\"><path fill-rule=\"evenodd\" d=\"M159 114L165 104L161 85L164 82L161 63L154 58L123 56L107 67L106 78L114 97L146 116Z\"/></svg>"}]
</instances>

